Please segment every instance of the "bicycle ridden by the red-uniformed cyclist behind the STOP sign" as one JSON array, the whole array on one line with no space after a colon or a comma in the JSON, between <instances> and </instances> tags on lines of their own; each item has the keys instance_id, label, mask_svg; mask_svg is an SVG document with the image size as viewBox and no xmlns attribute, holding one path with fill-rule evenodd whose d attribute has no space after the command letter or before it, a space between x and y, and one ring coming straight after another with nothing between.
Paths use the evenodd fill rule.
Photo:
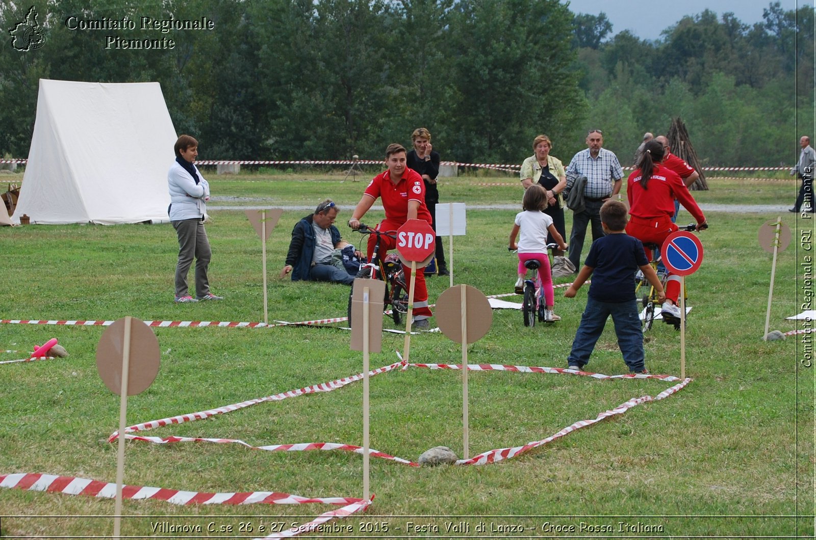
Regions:
<instances>
[{"instance_id":1,"label":"bicycle ridden by the red-uniformed cyclist behind the STOP sign","mask_svg":"<svg viewBox=\"0 0 816 540\"><path fill-rule=\"evenodd\" d=\"M360 224L357 232L363 235L373 234L377 237L374 247L374 255L368 263L360 265L360 271L356 277L365 279L379 279L385 281L385 297L383 299L384 308L388 312L391 308L391 317L395 325L400 325L402 316L408 312L408 294L406 293L406 278L402 272L402 263L397 255L389 254L385 259L379 258L379 243L382 237L397 238L397 231L378 231L368 225ZM348 325L352 325L352 294L348 293Z\"/></svg>"}]
</instances>

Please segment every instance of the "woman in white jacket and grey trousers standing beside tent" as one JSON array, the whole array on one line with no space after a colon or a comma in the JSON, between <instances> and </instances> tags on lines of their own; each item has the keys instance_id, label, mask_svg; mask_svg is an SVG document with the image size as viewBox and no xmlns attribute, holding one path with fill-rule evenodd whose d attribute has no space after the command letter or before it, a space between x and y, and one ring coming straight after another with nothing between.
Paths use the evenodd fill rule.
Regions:
<instances>
[{"instance_id":1,"label":"woman in white jacket and grey trousers standing beside tent","mask_svg":"<svg viewBox=\"0 0 816 540\"><path fill-rule=\"evenodd\" d=\"M206 270L210 264L210 241L204 230L206 201L210 200L210 184L193 162L198 156L198 141L190 135L181 135L175 141L175 162L167 171L170 190L171 224L179 236L179 262L175 266L175 301L179 303L201 300L223 300L210 292ZM196 298L188 293L187 274L196 259Z\"/></svg>"}]
</instances>

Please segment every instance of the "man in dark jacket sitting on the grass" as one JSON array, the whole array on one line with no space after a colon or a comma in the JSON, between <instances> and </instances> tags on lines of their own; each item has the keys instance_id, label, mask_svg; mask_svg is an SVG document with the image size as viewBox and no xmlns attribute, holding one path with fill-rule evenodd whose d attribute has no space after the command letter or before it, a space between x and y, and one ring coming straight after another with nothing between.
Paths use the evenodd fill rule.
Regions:
<instances>
[{"instance_id":1,"label":"man in dark jacket sitting on the grass","mask_svg":"<svg viewBox=\"0 0 816 540\"><path fill-rule=\"evenodd\" d=\"M317 205L314 214L307 215L295 224L289 253L286 255L286 266L281 271L282 278L291 272L292 281L353 284L354 276L332 262L335 250L348 245L348 242L340 238L340 232L334 225L338 212L335 202L326 199ZM355 255L361 256L359 251Z\"/></svg>"}]
</instances>

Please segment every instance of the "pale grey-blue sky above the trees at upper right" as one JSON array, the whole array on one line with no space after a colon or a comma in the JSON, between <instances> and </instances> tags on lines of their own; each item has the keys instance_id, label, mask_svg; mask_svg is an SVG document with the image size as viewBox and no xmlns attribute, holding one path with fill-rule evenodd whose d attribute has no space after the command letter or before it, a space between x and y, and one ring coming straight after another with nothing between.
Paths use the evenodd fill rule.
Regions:
<instances>
[{"instance_id":1,"label":"pale grey-blue sky above the trees at upper right","mask_svg":"<svg viewBox=\"0 0 816 540\"><path fill-rule=\"evenodd\" d=\"M566 1L566 0L565 0ZM734 12L737 19L745 24L762 21L762 9L770 0L669 0L644 2L643 0L570 0L570 11L598 15L605 12L612 23L612 33L628 29L641 39L657 39L660 33L681 20L684 15L696 15L706 8L714 11L717 17L727 11ZM813 6L814 0L780 0L785 11L795 10L799 6ZM611 37L611 36L610 36Z\"/></svg>"}]
</instances>

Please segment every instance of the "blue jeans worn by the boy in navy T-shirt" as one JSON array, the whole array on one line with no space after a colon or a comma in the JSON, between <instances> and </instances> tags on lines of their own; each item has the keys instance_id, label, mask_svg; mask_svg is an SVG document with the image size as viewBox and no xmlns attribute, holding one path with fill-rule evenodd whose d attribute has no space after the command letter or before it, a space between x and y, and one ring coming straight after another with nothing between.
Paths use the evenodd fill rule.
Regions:
<instances>
[{"instance_id":1,"label":"blue jeans worn by the boy in navy T-shirt","mask_svg":"<svg viewBox=\"0 0 816 540\"><path fill-rule=\"evenodd\" d=\"M645 369L643 332L635 299L627 302L601 302L589 297L587 308L583 310L583 316L581 316L581 324L572 342L572 351L567 358L567 365L579 365L583 368L589 363L589 356L598 338L601 337L606 319L610 315L614 322L614 332L618 335L618 346L620 352L623 353L623 361L629 366L629 371Z\"/></svg>"}]
</instances>

